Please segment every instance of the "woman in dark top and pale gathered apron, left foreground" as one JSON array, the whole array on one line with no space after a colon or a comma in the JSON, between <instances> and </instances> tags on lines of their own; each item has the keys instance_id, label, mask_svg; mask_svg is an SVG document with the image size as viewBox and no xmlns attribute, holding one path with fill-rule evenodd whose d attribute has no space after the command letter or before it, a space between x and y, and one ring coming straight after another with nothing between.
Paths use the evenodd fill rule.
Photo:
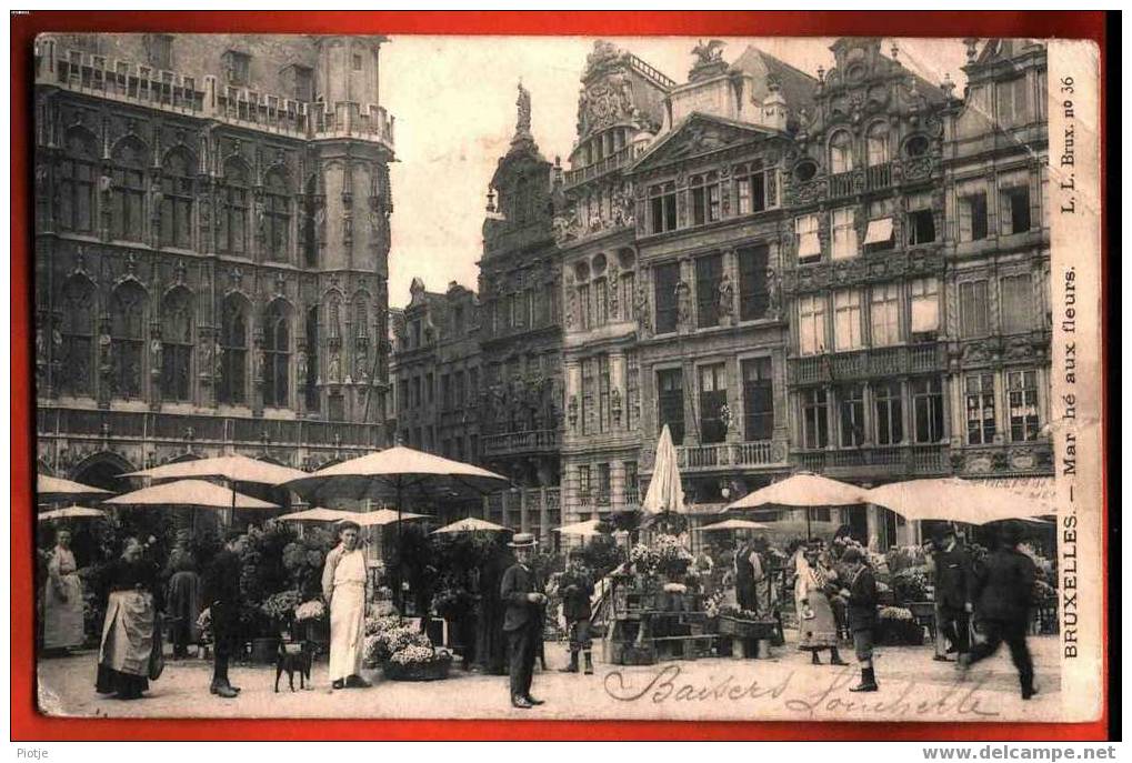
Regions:
<instances>
[{"instance_id":1,"label":"woman in dark top and pale gathered apron, left foreground","mask_svg":"<svg viewBox=\"0 0 1132 763\"><path fill-rule=\"evenodd\" d=\"M157 566L143 556L136 538L126 541L122 556L105 574L106 619L98 645L98 694L137 700L149 688L149 659L160 640L154 637L157 612Z\"/></svg>"}]
</instances>

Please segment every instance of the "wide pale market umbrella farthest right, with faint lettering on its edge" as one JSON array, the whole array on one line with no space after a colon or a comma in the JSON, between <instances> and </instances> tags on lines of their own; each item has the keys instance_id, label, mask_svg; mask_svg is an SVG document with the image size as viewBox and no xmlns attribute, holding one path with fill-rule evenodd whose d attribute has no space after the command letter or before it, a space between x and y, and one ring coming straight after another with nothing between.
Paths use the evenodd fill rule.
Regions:
<instances>
[{"instance_id":1,"label":"wide pale market umbrella farthest right, with faint lettering on its edge","mask_svg":"<svg viewBox=\"0 0 1132 763\"><path fill-rule=\"evenodd\" d=\"M892 482L865 492L866 500L906 520L987 524L1056 514L1053 504L1007 488L945 477Z\"/></svg>"}]
</instances>

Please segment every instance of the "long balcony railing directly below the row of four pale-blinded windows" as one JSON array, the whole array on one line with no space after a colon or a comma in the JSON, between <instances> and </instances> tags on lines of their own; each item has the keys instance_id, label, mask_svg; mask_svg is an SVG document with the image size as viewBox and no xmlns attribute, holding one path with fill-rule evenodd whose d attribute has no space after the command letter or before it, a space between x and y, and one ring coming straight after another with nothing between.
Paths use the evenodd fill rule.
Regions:
<instances>
[{"instance_id":1,"label":"long balcony railing directly below the row of four pale-blinded windows","mask_svg":"<svg viewBox=\"0 0 1132 763\"><path fill-rule=\"evenodd\" d=\"M928 342L790 358L788 378L790 384L821 384L927 374L945 366L943 344Z\"/></svg>"}]
</instances>

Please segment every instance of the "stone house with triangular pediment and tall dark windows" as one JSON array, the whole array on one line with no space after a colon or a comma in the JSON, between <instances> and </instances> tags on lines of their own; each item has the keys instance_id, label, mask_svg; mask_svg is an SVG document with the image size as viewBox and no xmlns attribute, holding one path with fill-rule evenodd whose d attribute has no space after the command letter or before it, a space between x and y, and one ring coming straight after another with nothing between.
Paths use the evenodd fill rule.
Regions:
<instances>
[{"instance_id":1,"label":"stone house with triangular pediment and tall dark windows","mask_svg":"<svg viewBox=\"0 0 1132 763\"><path fill-rule=\"evenodd\" d=\"M790 470L782 188L807 75L701 45L666 98L677 121L628 169L640 262L641 472L668 425L685 500L714 514ZM698 521L698 520L696 520Z\"/></svg>"}]
</instances>

